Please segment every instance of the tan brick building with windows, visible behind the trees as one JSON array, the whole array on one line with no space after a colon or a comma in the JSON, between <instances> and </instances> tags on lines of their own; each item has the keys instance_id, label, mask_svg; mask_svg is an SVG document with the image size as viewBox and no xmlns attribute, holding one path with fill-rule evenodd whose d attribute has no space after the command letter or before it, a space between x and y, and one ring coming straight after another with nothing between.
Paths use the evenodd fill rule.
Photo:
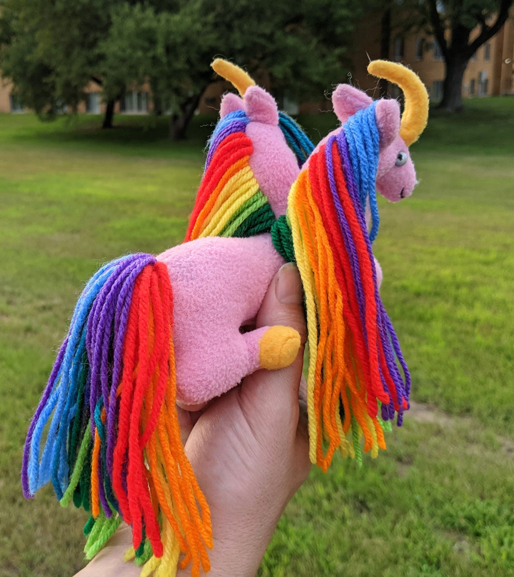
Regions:
<instances>
[{"instance_id":1,"label":"tan brick building with windows, visible behind the trees","mask_svg":"<svg viewBox=\"0 0 514 577\"><path fill-rule=\"evenodd\" d=\"M478 30L472 33L478 34ZM355 48L351 54L351 82L364 90L373 90L376 79L368 76L366 66L368 55L371 59L379 58L381 36L381 14L370 14L356 33ZM444 79L444 61L437 42L431 36L422 33L411 33L405 36L392 35L389 47L389 58L403 62L419 74L429 89L430 99L437 102L442 97ZM514 17L509 18L504 27L483 44L470 62L464 73L463 98L484 96L514 95ZM1 80L1 79L0 79ZM266 87L266 77L256 78ZM202 113L217 110L222 93L231 88L228 83L216 82L207 88L199 104ZM390 86L390 95L398 95L397 88ZM80 113L101 114L105 110L100 87L91 82L85 89L87 99L79 106ZM330 109L329 100L318 103L295 103L285 99L284 108L289 113L316 113ZM148 86L143 86L125 93L121 102L116 105L116 112L122 114L147 114L152 109ZM23 106L13 93L9 83L0 81L0 113L21 113Z\"/></svg>"}]
</instances>

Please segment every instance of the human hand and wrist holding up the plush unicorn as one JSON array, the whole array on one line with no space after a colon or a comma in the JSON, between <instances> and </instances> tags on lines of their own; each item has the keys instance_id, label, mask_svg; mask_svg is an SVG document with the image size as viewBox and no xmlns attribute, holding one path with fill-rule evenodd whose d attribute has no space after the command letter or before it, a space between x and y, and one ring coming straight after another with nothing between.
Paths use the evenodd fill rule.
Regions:
<instances>
[{"instance_id":1,"label":"human hand and wrist holding up the plush unicorn","mask_svg":"<svg viewBox=\"0 0 514 577\"><path fill-rule=\"evenodd\" d=\"M185 452L211 509L210 577L254 577L278 519L310 470L298 402L302 303L300 275L286 264L271 281L256 328L295 328L302 342L296 360L285 369L259 370L204 409L182 415L191 428Z\"/></svg>"}]
</instances>

